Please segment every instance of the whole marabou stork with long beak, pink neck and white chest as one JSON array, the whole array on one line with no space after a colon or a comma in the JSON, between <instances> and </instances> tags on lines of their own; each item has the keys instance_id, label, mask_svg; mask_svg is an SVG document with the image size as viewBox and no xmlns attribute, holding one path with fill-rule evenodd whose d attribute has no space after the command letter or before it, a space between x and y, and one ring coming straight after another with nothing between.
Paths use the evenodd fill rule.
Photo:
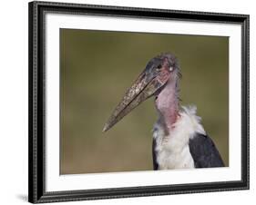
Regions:
<instances>
[{"instance_id":1,"label":"whole marabou stork with long beak, pink neck and white chest","mask_svg":"<svg viewBox=\"0 0 256 205\"><path fill-rule=\"evenodd\" d=\"M153 129L154 170L223 167L220 153L200 124L195 106L179 106L179 63L173 54L152 58L105 124L108 131L151 96L159 120Z\"/></svg>"}]
</instances>

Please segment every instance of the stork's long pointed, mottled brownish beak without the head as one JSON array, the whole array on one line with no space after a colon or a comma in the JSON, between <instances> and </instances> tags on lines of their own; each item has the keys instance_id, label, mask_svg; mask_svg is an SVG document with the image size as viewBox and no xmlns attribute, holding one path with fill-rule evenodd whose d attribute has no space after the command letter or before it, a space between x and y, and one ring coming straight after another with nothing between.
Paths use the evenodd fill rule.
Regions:
<instances>
[{"instance_id":1,"label":"stork's long pointed, mottled brownish beak without the head","mask_svg":"<svg viewBox=\"0 0 256 205\"><path fill-rule=\"evenodd\" d=\"M126 116L128 112L131 112L138 104L147 100L164 85L164 83L158 81L157 76L158 73L148 73L147 69L140 73L138 79L128 89L122 101L118 103L118 106L112 112L102 132L107 132Z\"/></svg>"}]
</instances>

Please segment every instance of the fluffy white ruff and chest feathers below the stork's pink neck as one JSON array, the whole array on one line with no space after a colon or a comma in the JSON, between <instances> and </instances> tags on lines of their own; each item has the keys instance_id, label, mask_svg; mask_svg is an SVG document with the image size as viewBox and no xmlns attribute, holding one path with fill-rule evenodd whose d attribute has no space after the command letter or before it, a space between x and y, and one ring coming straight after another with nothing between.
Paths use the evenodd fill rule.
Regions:
<instances>
[{"instance_id":1,"label":"fluffy white ruff and chest feathers below the stork's pink neck","mask_svg":"<svg viewBox=\"0 0 256 205\"><path fill-rule=\"evenodd\" d=\"M196 106L182 106L179 118L168 135L165 134L166 128L162 119L154 125L153 137L156 140L159 170L194 168L189 152L189 139L195 133L205 134L196 112Z\"/></svg>"}]
</instances>

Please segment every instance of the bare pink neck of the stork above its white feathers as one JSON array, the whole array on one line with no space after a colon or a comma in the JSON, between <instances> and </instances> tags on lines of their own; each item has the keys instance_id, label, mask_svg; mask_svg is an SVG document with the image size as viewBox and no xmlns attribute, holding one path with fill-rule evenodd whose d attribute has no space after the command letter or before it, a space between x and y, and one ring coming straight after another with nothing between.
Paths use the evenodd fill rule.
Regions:
<instances>
[{"instance_id":1,"label":"bare pink neck of the stork above its white feathers","mask_svg":"<svg viewBox=\"0 0 256 205\"><path fill-rule=\"evenodd\" d=\"M170 131L179 115L179 98L175 81L169 81L161 93L159 93L155 103L160 118L163 118L162 120L164 120L165 125Z\"/></svg>"}]
</instances>

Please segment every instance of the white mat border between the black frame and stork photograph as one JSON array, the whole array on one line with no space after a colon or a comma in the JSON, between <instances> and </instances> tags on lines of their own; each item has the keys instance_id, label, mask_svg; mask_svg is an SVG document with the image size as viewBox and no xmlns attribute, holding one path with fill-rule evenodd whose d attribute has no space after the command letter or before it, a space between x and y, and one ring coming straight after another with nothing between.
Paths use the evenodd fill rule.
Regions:
<instances>
[{"instance_id":1,"label":"white mat border between the black frame and stork photograph","mask_svg":"<svg viewBox=\"0 0 256 205\"><path fill-rule=\"evenodd\" d=\"M230 167L59 175L59 29L230 36ZM241 181L241 25L46 14L46 191ZM168 179L168 180L167 180Z\"/></svg>"}]
</instances>

